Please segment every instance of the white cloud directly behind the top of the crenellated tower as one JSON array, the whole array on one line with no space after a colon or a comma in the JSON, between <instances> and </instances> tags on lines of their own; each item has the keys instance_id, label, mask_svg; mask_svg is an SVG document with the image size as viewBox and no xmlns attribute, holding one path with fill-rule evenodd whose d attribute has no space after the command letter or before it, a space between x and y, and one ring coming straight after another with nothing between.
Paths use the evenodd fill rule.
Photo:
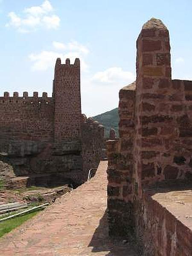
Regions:
<instances>
[{"instance_id":1,"label":"white cloud directly behind the top of the crenellated tower","mask_svg":"<svg viewBox=\"0 0 192 256\"><path fill-rule=\"evenodd\" d=\"M79 58L81 61L81 70L87 71L88 65L84 61L84 55L86 55L89 51L86 47L84 47L81 44L78 44L76 42L76 51L70 51L71 44L73 42L70 42L68 44L63 44L58 41L53 41L52 45L57 51L41 51L40 53L31 53L29 55L30 61L33 62L32 64L32 70L33 71L45 71L50 67L54 67L55 61L57 58L61 58L62 61L64 61L66 58L70 58L71 64L74 63L76 58ZM79 46L79 47L78 47ZM85 51L86 49L86 51Z\"/></svg>"}]
</instances>

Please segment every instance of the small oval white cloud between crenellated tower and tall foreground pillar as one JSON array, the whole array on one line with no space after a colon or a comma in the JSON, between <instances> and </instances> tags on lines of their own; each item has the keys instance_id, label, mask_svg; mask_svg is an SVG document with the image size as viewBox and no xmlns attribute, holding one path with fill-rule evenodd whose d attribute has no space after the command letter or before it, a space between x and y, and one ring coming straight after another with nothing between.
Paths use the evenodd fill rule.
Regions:
<instances>
[{"instance_id":1,"label":"small oval white cloud between crenellated tower and tall foreground pillar","mask_svg":"<svg viewBox=\"0 0 192 256\"><path fill-rule=\"evenodd\" d=\"M111 67L105 71L97 72L92 80L107 84L114 84L114 83L128 83L130 81L134 81L135 76L133 73L129 71L122 70L121 67Z\"/></svg>"}]
</instances>

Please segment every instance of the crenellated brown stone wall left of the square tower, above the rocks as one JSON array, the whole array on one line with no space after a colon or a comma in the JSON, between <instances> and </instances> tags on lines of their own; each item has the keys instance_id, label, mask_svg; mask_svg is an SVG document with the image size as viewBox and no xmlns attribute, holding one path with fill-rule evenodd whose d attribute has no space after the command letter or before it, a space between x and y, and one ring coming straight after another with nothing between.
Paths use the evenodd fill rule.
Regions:
<instances>
[{"instance_id":1,"label":"crenellated brown stone wall left of the square tower, above the rocks","mask_svg":"<svg viewBox=\"0 0 192 256\"><path fill-rule=\"evenodd\" d=\"M0 97L0 139L41 140L50 142L53 138L54 100L43 93L29 97L23 93L4 93Z\"/></svg>"}]
</instances>

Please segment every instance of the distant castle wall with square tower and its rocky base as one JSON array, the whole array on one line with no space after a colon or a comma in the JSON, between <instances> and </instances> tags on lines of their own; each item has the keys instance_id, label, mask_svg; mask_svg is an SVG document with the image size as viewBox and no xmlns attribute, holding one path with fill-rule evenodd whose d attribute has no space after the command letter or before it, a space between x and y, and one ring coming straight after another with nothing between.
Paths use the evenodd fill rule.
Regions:
<instances>
[{"instance_id":1,"label":"distant castle wall with square tower and its rocky base","mask_svg":"<svg viewBox=\"0 0 192 256\"><path fill-rule=\"evenodd\" d=\"M15 175L55 174L81 184L102 157L103 127L81 114L80 61L57 59L52 98L4 93L0 97L0 160Z\"/></svg>"}]
</instances>

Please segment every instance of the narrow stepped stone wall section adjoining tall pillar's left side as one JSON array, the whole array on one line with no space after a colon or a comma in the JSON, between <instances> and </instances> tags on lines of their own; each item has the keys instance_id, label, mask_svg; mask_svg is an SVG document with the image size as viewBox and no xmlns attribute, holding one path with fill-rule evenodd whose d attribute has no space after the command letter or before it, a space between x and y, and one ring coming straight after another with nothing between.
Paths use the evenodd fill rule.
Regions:
<instances>
[{"instance_id":1,"label":"narrow stepped stone wall section adjoining tall pillar's left side","mask_svg":"<svg viewBox=\"0 0 192 256\"><path fill-rule=\"evenodd\" d=\"M119 141L108 146L108 218L111 235L133 231L135 83L119 91ZM125 210L126 209L126 210Z\"/></svg>"}]
</instances>

